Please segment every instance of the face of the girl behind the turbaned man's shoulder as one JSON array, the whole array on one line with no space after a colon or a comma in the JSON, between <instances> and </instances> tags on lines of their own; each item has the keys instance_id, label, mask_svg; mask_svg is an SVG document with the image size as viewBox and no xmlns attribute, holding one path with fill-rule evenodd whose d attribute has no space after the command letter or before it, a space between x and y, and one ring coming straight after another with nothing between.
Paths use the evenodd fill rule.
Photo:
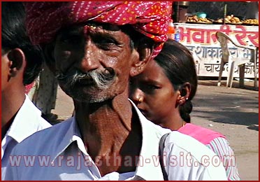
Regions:
<instances>
[{"instance_id":1,"label":"face of the girl behind the turbaned man's shoulder","mask_svg":"<svg viewBox=\"0 0 260 182\"><path fill-rule=\"evenodd\" d=\"M171 81L154 61L147 64L143 73L131 78L130 99L148 120L157 125L178 111L175 108L177 97Z\"/></svg>"}]
</instances>

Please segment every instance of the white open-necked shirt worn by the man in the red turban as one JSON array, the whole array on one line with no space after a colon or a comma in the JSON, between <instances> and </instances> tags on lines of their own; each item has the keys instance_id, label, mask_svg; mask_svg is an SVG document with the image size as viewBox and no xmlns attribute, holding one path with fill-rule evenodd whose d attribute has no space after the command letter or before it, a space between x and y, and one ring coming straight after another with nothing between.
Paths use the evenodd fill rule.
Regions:
<instances>
[{"instance_id":1,"label":"white open-necked shirt worn by the man in the red turban","mask_svg":"<svg viewBox=\"0 0 260 182\"><path fill-rule=\"evenodd\" d=\"M158 157L159 139L171 130L154 125L132 102L131 104L138 113L143 132L139 163L135 172L124 174L112 172L101 176L98 167L85 149L75 118L70 118L47 130L36 132L17 145L12 155L17 158L20 156L20 163L13 164L13 167L8 166L10 175L6 176L5 180L164 180ZM34 148L31 148L33 144ZM201 155L208 155L210 158L215 155L200 142L180 132L171 132L166 139L164 152L166 158L173 155L180 158L180 154L190 152L194 155L194 162L197 162L197 158ZM29 157L34 160L31 164L28 163ZM203 167L200 162L197 163L197 167L187 165L166 167L169 180L226 180L223 165Z\"/></svg>"}]
</instances>

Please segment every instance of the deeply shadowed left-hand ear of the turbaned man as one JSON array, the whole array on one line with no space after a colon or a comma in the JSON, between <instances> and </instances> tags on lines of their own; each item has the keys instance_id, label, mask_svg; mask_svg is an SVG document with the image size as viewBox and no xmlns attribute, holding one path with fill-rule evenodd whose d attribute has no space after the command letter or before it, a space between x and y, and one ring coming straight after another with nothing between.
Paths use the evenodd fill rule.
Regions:
<instances>
[{"instance_id":1,"label":"deeply shadowed left-hand ear of the turbaned man","mask_svg":"<svg viewBox=\"0 0 260 182\"><path fill-rule=\"evenodd\" d=\"M56 71L54 49L55 49L54 43L49 43L47 45L43 45L44 60L45 60L46 65L50 69L50 71L52 71L52 73L55 73L55 71Z\"/></svg>"}]
</instances>

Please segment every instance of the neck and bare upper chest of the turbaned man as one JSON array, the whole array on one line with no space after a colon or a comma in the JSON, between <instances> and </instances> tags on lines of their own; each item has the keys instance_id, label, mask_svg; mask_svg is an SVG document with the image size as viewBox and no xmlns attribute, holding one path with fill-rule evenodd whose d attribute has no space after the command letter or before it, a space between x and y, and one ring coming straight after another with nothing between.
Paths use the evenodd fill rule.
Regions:
<instances>
[{"instance_id":1,"label":"neck and bare upper chest of the turbaned man","mask_svg":"<svg viewBox=\"0 0 260 182\"><path fill-rule=\"evenodd\" d=\"M138 122L133 123L133 120L138 117L132 116L132 106L127 95L120 94L100 104L74 102L75 118L87 153L94 162L103 164L99 166L101 175L113 171L129 172L136 167L132 165L130 169L122 167L120 163L111 163L115 161L114 158L124 158L126 155L137 156L140 153L141 129L140 125L136 125ZM136 148L133 148L133 144Z\"/></svg>"}]
</instances>

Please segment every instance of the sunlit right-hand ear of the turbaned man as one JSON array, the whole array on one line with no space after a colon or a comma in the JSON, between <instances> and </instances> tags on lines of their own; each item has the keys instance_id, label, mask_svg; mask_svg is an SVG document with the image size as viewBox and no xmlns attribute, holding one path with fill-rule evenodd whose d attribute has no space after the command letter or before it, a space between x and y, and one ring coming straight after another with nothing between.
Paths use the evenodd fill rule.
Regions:
<instances>
[{"instance_id":1,"label":"sunlit right-hand ear of the turbaned man","mask_svg":"<svg viewBox=\"0 0 260 182\"><path fill-rule=\"evenodd\" d=\"M136 51L136 50L133 50ZM151 48L138 48L136 51L138 54L138 59L135 59L133 64L131 65L130 76L136 76L143 72L145 66L150 61L152 57Z\"/></svg>"}]
</instances>

